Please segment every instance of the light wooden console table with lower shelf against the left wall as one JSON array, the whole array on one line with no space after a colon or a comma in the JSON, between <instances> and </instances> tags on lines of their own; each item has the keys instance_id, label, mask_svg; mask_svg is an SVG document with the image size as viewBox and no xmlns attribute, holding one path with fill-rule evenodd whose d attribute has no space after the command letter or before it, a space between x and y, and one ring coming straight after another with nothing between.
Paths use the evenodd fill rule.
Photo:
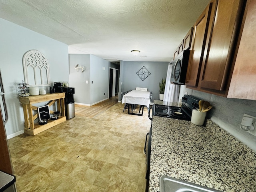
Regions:
<instances>
[{"instance_id":1,"label":"light wooden console table with lower shelf against the left wall","mask_svg":"<svg viewBox=\"0 0 256 192\"><path fill-rule=\"evenodd\" d=\"M20 103L23 107L24 119L25 119L25 128L24 132L29 135L36 135L40 132L43 132L49 128L52 128L55 125L58 125L66 121L65 116L65 104L64 104L65 93L53 93L46 95L33 95L28 97L20 97ZM48 105L51 106L57 102L57 109L60 111L61 116L57 120L48 120L47 124L40 125L39 123L34 123L34 120L38 118L38 113L33 115L33 110L37 111L36 106L32 104L40 102L48 102ZM54 111L50 110L51 114L54 114Z\"/></svg>"}]
</instances>

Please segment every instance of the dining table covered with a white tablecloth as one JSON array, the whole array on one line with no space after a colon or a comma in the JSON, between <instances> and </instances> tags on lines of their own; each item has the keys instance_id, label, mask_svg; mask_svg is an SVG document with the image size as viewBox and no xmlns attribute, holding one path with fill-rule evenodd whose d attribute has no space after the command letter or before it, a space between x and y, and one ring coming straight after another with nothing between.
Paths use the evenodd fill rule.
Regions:
<instances>
[{"instance_id":1,"label":"dining table covered with a white tablecloth","mask_svg":"<svg viewBox=\"0 0 256 192\"><path fill-rule=\"evenodd\" d=\"M144 106L149 107L149 104L150 104L150 92L132 90L132 91L128 92L127 94L125 94L123 96L122 103L140 105L141 106L140 108L142 108L142 114L143 114ZM130 105L128 105L128 114L141 115L142 116L142 114L130 113L129 106Z\"/></svg>"}]
</instances>

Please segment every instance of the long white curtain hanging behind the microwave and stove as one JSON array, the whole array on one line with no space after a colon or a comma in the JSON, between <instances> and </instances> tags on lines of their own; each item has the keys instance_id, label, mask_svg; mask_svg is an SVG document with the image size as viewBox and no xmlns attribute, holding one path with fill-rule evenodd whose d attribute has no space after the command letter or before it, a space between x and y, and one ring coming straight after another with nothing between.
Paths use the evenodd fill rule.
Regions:
<instances>
[{"instance_id":1,"label":"long white curtain hanging behind the microwave and stove","mask_svg":"<svg viewBox=\"0 0 256 192\"><path fill-rule=\"evenodd\" d=\"M180 85L171 84L172 65L168 65L166 84L164 89L164 103L178 102L180 94Z\"/></svg>"}]
</instances>

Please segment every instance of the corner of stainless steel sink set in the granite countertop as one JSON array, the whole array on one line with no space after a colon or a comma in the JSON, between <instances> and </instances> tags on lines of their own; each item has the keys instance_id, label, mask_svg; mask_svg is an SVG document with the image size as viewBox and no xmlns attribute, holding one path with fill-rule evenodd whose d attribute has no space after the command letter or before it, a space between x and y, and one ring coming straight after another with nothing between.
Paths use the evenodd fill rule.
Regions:
<instances>
[{"instance_id":1,"label":"corner of stainless steel sink set in the granite countertop","mask_svg":"<svg viewBox=\"0 0 256 192\"><path fill-rule=\"evenodd\" d=\"M160 192L220 192L169 176L160 177Z\"/></svg>"}]
</instances>

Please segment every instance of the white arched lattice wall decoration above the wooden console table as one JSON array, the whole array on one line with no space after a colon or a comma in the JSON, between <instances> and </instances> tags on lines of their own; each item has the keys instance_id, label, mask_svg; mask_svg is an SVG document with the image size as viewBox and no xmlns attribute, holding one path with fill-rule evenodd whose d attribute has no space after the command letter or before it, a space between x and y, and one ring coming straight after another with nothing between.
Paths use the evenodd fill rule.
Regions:
<instances>
[{"instance_id":1,"label":"white arched lattice wall decoration above the wooden console table","mask_svg":"<svg viewBox=\"0 0 256 192\"><path fill-rule=\"evenodd\" d=\"M50 86L50 68L47 58L38 50L30 50L23 56L25 83L29 86Z\"/></svg>"}]
</instances>

